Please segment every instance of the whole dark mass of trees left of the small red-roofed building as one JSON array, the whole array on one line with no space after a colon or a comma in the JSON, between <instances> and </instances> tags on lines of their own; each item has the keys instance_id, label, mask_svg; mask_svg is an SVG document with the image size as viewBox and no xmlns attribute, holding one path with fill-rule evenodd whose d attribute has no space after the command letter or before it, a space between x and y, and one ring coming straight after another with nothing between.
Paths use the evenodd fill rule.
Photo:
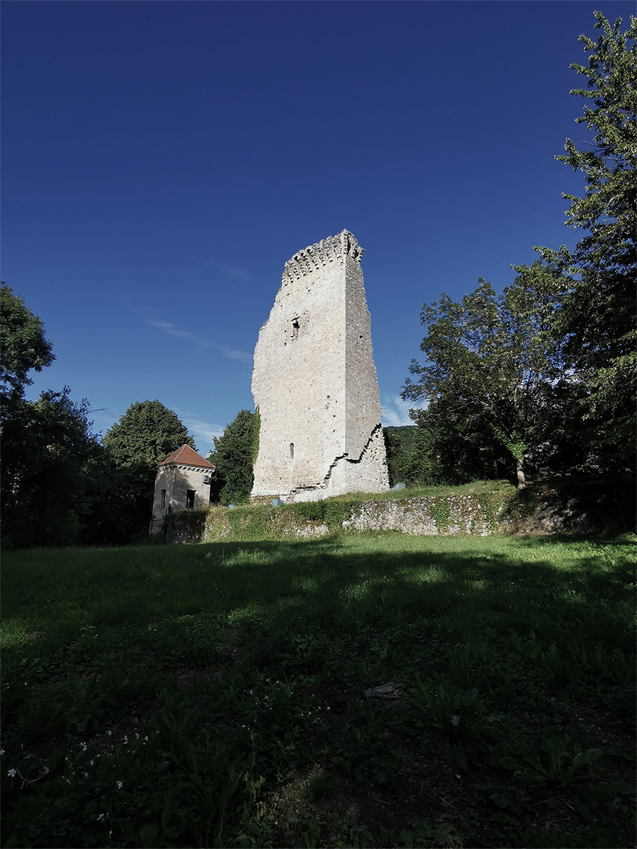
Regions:
<instances>
[{"instance_id":1,"label":"whole dark mass of trees left of the small red-roofed building","mask_svg":"<svg viewBox=\"0 0 637 849\"><path fill-rule=\"evenodd\" d=\"M193 437L159 401L132 404L100 441L70 389L25 399L55 357L42 320L0 284L3 548L129 543L148 534L157 466Z\"/></svg>"}]
</instances>

